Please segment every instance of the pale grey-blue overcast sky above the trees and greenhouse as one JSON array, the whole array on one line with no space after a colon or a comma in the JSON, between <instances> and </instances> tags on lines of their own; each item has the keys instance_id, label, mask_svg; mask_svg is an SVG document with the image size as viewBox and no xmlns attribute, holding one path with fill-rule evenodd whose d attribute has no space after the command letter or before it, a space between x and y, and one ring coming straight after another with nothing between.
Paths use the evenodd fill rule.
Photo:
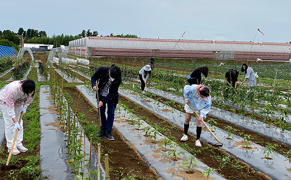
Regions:
<instances>
[{"instance_id":1,"label":"pale grey-blue overcast sky above the trees and greenhouse","mask_svg":"<svg viewBox=\"0 0 291 180\"><path fill-rule=\"evenodd\" d=\"M2 31L49 36L90 29L98 36L291 41L291 0L0 0L0 17Z\"/></svg>"}]
</instances>

